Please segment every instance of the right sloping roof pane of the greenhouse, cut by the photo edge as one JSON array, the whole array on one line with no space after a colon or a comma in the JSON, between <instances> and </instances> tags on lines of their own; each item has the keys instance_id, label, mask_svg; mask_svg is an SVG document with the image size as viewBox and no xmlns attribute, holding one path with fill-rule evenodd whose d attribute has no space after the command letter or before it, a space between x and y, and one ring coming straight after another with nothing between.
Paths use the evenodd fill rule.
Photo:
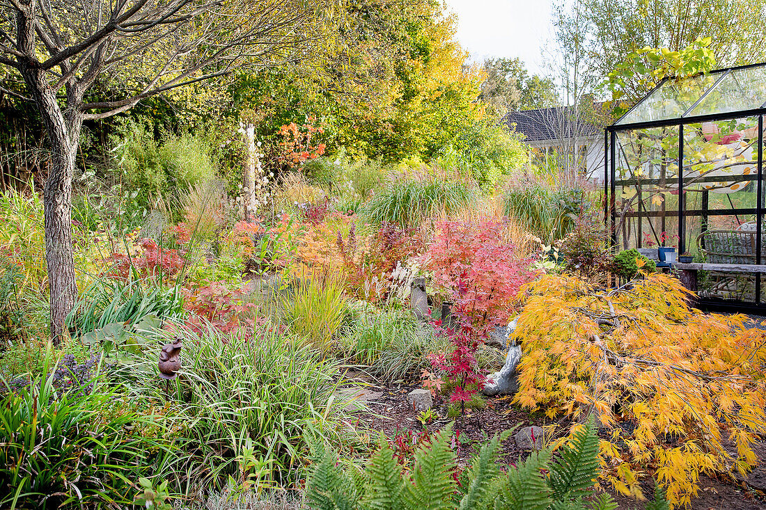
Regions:
<instances>
[{"instance_id":1,"label":"right sloping roof pane of the greenhouse, cut by the photo edge","mask_svg":"<svg viewBox=\"0 0 766 510\"><path fill-rule=\"evenodd\" d=\"M733 70L689 112L692 115L738 112L766 103L766 66Z\"/></svg>"}]
</instances>

